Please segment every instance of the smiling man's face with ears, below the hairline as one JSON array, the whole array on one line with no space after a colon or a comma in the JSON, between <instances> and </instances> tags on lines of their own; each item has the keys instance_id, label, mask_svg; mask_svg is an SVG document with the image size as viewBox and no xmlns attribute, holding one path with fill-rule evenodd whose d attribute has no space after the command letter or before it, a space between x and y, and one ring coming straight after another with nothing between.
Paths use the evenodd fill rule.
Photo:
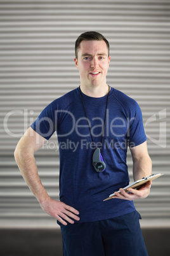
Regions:
<instances>
[{"instance_id":1,"label":"smiling man's face with ears, below the hairline","mask_svg":"<svg viewBox=\"0 0 170 256\"><path fill-rule=\"evenodd\" d=\"M82 41L74 59L81 77L81 85L105 85L110 56L105 41Z\"/></svg>"}]
</instances>

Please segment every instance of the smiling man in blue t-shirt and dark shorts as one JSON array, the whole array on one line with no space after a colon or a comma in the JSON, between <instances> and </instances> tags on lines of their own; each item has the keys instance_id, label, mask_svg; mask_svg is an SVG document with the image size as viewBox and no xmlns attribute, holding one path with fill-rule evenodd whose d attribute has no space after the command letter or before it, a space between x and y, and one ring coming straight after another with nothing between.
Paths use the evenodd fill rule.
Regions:
<instances>
[{"instance_id":1,"label":"smiling man in blue t-shirt and dark shorts","mask_svg":"<svg viewBox=\"0 0 170 256\"><path fill-rule=\"evenodd\" d=\"M128 146L134 180L152 173L140 107L107 85L110 55L103 35L81 34L74 61L80 87L42 111L18 142L16 162L42 210L57 219L63 255L148 255L133 200L147 197L151 182L140 190L122 190L129 183ZM34 152L55 131L60 145L60 201L48 196L34 159ZM115 192L114 199L103 202L119 189L121 194Z\"/></svg>"}]
</instances>

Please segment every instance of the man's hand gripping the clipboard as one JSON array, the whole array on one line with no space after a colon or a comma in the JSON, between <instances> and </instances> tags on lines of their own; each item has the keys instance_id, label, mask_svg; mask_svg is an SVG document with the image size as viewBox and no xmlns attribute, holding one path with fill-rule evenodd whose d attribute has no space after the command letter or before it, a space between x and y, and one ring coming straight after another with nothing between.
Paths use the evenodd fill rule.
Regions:
<instances>
[{"instance_id":1,"label":"man's hand gripping the clipboard","mask_svg":"<svg viewBox=\"0 0 170 256\"><path fill-rule=\"evenodd\" d=\"M120 188L121 193L115 192L114 198L124 199L132 201L134 199L143 199L148 196L150 193L152 181L148 181L145 185L142 185L139 190L128 188L128 192L125 192L124 189Z\"/></svg>"}]
</instances>

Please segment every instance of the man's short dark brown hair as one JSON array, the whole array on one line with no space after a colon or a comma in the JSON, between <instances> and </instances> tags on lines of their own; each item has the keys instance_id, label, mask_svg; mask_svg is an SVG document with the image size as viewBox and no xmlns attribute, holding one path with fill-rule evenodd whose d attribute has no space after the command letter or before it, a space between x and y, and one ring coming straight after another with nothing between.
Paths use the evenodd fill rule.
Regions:
<instances>
[{"instance_id":1,"label":"man's short dark brown hair","mask_svg":"<svg viewBox=\"0 0 170 256\"><path fill-rule=\"evenodd\" d=\"M109 56L109 51L110 51L110 46L109 43L107 41L107 39L105 38L105 36L103 36L102 34L100 34L99 32L95 32L95 31L88 31L88 32L84 32L82 33L77 40L75 41L75 58L77 58L78 55L78 49L79 46L81 44L82 41L105 41L107 48L108 48L108 56Z\"/></svg>"}]
</instances>

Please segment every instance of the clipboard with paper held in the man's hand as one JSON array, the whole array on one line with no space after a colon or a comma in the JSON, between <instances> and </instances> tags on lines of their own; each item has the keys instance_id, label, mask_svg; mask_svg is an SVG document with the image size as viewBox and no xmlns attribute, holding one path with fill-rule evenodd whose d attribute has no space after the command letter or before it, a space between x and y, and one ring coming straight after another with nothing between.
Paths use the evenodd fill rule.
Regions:
<instances>
[{"instance_id":1,"label":"clipboard with paper held in the man's hand","mask_svg":"<svg viewBox=\"0 0 170 256\"><path fill-rule=\"evenodd\" d=\"M133 183L129 184L128 186L124 187L123 189L125 191L128 191L127 189L128 188L134 188L134 189L138 189L141 187L141 185L147 183L148 181L152 181L152 180L155 180L157 178L159 178L160 176L164 175L164 173L159 173L159 174L152 174L150 176L147 176L145 178L142 178L141 180L136 180L134 181ZM118 193L121 193L121 191L117 191ZM115 196L115 194L111 194L109 197L107 197L106 199L104 199L103 201L107 201L109 199L112 199L113 197Z\"/></svg>"}]
</instances>

